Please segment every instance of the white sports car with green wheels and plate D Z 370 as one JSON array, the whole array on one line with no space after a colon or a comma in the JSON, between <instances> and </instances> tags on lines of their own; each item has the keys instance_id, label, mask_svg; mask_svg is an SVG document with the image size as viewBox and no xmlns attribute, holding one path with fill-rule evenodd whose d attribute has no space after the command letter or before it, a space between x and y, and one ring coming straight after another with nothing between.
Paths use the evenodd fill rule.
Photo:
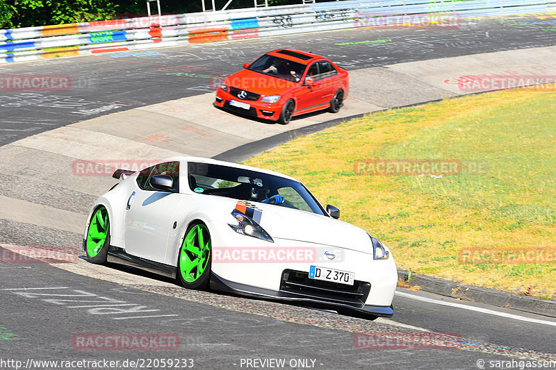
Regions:
<instances>
[{"instance_id":1,"label":"white sports car with green wheels and plate D Z 370","mask_svg":"<svg viewBox=\"0 0 556 370\"><path fill-rule=\"evenodd\" d=\"M389 249L339 221L299 180L207 158L170 158L123 180L92 206L83 249L212 288L370 319L393 314Z\"/></svg>"}]
</instances>

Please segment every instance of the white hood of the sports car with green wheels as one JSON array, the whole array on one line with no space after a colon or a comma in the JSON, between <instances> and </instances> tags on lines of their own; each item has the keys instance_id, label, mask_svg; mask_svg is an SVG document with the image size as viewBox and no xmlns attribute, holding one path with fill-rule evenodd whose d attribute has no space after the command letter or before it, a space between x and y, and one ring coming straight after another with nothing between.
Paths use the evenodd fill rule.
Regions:
<instances>
[{"instance_id":1,"label":"white hood of the sports car with green wheels","mask_svg":"<svg viewBox=\"0 0 556 370\"><path fill-rule=\"evenodd\" d=\"M236 223L231 211L236 208L236 199L220 196L202 196L206 209L211 210L213 221L226 224ZM364 253L373 253L373 245L365 230L332 217L317 215L279 205L250 202L260 217L259 225L273 239L289 239L334 246ZM260 213L259 213L260 212Z\"/></svg>"}]
</instances>

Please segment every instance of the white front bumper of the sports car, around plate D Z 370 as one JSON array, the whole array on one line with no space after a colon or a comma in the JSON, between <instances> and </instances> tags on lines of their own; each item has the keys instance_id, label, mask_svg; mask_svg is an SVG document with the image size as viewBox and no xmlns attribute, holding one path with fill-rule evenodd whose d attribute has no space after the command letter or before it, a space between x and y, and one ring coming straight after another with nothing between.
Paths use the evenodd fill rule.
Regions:
<instances>
[{"instance_id":1,"label":"white front bumper of the sports car, around plate D Z 370","mask_svg":"<svg viewBox=\"0 0 556 370\"><path fill-rule=\"evenodd\" d=\"M225 226L225 227L224 227ZM334 246L298 242L275 237L275 242L265 242L254 237L240 235L229 226L209 222L212 246L215 253L221 249L301 249L313 251L311 260L234 260L233 263L213 260L213 284L238 294L265 296L288 301L320 303L325 307L342 308L389 316L398 271L392 257L388 260L373 260L373 253L364 253ZM325 253L336 255L329 260ZM353 287L329 282L320 283L308 279L311 265L354 272ZM336 284L336 285L334 285Z\"/></svg>"}]
</instances>

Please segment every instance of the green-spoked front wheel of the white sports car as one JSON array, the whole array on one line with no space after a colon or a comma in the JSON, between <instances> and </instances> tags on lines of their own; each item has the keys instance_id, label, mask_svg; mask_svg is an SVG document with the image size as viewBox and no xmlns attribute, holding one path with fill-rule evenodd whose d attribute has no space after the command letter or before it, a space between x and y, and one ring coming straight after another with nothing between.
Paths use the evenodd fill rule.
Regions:
<instances>
[{"instance_id":1,"label":"green-spoked front wheel of the white sports car","mask_svg":"<svg viewBox=\"0 0 556 370\"><path fill-rule=\"evenodd\" d=\"M211 276L211 235L204 224L188 227L179 249L178 279L189 289L206 289Z\"/></svg>"}]
</instances>

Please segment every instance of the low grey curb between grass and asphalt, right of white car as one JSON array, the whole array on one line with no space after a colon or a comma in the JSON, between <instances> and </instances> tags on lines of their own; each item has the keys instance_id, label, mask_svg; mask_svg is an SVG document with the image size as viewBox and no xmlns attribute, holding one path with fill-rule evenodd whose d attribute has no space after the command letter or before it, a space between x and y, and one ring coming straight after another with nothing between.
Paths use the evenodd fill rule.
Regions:
<instances>
[{"instance_id":1,"label":"low grey curb between grass and asphalt, right of white car","mask_svg":"<svg viewBox=\"0 0 556 370\"><path fill-rule=\"evenodd\" d=\"M532 296L521 296L496 289L475 287L474 285L465 285L425 275L412 274L408 281L408 276L408 271L398 269L398 278L409 284L410 287L418 286L420 290L425 292L460 298L471 302L486 303L487 305L495 305L502 308L511 308L512 310L520 310L532 314L556 317L556 301L543 300Z\"/></svg>"}]
</instances>

